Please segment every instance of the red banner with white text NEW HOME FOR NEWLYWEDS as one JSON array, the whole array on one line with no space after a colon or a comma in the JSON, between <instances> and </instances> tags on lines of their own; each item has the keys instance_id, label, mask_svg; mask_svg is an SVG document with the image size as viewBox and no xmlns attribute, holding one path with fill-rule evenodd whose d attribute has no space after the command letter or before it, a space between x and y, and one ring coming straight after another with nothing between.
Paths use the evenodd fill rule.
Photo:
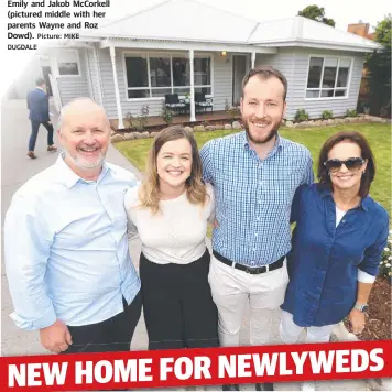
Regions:
<instances>
[{"instance_id":1,"label":"red banner with white text NEW HOME FOR NEWLYWEDS","mask_svg":"<svg viewBox=\"0 0 392 392\"><path fill-rule=\"evenodd\" d=\"M166 388L392 375L392 340L1 357L0 391Z\"/></svg>"}]
</instances>

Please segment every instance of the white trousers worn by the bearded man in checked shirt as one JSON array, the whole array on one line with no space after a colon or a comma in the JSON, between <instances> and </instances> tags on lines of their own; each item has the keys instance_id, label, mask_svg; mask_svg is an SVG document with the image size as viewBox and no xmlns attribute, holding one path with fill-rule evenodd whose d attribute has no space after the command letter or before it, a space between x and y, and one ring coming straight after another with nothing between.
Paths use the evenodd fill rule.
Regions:
<instances>
[{"instance_id":1,"label":"white trousers worn by the bearded man in checked shirt","mask_svg":"<svg viewBox=\"0 0 392 392\"><path fill-rule=\"evenodd\" d=\"M273 313L282 305L288 283L286 260L277 270L251 275L226 265L211 255L208 281L218 307L220 345L239 346L240 328L248 301L250 344L252 346L268 344Z\"/></svg>"}]
</instances>

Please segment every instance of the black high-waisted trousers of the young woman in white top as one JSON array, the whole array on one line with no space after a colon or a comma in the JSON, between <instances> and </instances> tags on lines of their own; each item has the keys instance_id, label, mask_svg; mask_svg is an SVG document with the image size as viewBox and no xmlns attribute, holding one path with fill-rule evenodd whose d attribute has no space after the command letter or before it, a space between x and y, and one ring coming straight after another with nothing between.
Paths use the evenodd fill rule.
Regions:
<instances>
[{"instance_id":1,"label":"black high-waisted trousers of the young woman in white top","mask_svg":"<svg viewBox=\"0 0 392 392\"><path fill-rule=\"evenodd\" d=\"M210 255L156 264L140 255L149 349L218 347L218 312L208 284Z\"/></svg>"}]
</instances>

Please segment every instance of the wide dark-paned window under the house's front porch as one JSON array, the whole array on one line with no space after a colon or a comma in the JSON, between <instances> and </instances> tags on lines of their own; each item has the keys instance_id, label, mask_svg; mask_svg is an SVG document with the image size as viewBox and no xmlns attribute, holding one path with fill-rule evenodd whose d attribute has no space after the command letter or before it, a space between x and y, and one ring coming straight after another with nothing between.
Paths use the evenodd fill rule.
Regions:
<instances>
[{"instance_id":1,"label":"wide dark-paned window under the house's front porch","mask_svg":"<svg viewBox=\"0 0 392 392\"><path fill-rule=\"evenodd\" d=\"M126 54L128 98L164 97L166 94L184 96L190 91L189 58L178 54ZM195 92L211 94L211 59L194 59Z\"/></svg>"}]
</instances>

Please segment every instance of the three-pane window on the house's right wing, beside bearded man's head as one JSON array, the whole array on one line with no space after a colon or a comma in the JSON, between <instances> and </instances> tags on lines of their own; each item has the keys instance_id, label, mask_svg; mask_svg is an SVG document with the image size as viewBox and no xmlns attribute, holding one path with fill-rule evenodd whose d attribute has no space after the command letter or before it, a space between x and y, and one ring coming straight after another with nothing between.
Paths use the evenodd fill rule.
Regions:
<instances>
[{"instance_id":1,"label":"three-pane window on the house's right wing, beside bearded man's head","mask_svg":"<svg viewBox=\"0 0 392 392\"><path fill-rule=\"evenodd\" d=\"M351 59L311 57L306 98L347 97Z\"/></svg>"}]
</instances>

